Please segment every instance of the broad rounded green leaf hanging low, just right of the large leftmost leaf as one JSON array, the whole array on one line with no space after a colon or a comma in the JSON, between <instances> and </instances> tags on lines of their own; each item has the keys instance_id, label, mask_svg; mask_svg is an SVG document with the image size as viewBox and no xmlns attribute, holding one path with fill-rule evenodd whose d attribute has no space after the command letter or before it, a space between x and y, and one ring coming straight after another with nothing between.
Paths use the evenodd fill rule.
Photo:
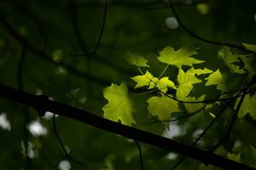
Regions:
<instances>
[{"instance_id":1,"label":"broad rounded green leaf hanging low, just right of the large leftmost leaf","mask_svg":"<svg viewBox=\"0 0 256 170\"><path fill-rule=\"evenodd\" d=\"M152 116L158 116L160 121L168 121L171 119L171 113L180 111L177 101L166 96L154 96L147 100L148 112Z\"/></svg>"}]
</instances>

